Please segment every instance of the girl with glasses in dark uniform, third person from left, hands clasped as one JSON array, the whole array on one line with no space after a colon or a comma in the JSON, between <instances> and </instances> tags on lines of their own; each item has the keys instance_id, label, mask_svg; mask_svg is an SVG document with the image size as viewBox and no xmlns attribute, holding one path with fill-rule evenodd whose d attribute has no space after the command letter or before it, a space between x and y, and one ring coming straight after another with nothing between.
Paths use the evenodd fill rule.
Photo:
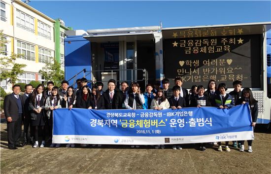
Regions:
<instances>
[{"instance_id":1,"label":"girl with glasses in dark uniform, third person from left, hands clasped","mask_svg":"<svg viewBox=\"0 0 271 174\"><path fill-rule=\"evenodd\" d=\"M36 90L31 95L31 100L29 102L29 108L31 110L31 126L34 133L34 143L33 147L38 147L38 132L40 129L42 142L40 147L45 145L45 118L44 118L44 105L45 105L45 91L42 84L37 85Z\"/></svg>"}]
</instances>

